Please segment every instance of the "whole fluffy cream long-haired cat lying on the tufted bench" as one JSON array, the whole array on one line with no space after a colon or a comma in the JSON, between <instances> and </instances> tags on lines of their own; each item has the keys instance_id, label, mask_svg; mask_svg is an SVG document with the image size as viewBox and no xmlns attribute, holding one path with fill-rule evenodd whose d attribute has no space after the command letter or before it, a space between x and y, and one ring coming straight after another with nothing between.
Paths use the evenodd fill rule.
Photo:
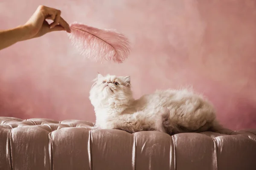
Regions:
<instances>
[{"instance_id":1,"label":"whole fluffy cream long-haired cat lying on the tufted bench","mask_svg":"<svg viewBox=\"0 0 256 170\"><path fill-rule=\"evenodd\" d=\"M188 89L163 90L135 100L129 76L98 74L90 90L96 114L95 125L129 133L155 130L170 135L218 131L215 109L201 95Z\"/></svg>"}]
</instances>

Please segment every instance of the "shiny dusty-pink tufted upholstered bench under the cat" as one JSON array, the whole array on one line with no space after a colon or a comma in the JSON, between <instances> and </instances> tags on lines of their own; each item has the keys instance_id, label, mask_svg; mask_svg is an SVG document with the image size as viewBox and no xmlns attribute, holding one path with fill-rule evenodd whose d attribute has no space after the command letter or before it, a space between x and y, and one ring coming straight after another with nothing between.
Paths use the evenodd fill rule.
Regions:
<instances>
[{"instance_id":1,"label":"shiny dusty-pink tufted upholstered bench under the cat","mask_svg":"<svg viewBox=\"0 0 256 170\"><path fill-rule=\"evenodd\" d=\"M256 170L256 130L101 130L82 120L0 117L0 170Z\"/></svg>"}]
</instances>

